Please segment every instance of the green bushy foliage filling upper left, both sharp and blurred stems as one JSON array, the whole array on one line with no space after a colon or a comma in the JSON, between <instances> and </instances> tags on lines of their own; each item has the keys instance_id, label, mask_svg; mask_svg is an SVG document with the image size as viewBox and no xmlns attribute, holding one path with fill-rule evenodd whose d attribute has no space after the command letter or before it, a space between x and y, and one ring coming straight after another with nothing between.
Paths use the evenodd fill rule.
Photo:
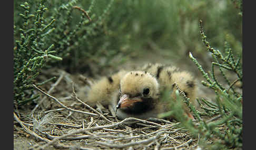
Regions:
<instances>
[{"instance_id":1,"label":"green bushy foliage filling upper left, both sharp and blurred stems","mask_svg":"<svg viewBox=\"0 0 256 150\"><path fill-rule=\"evenodd\" d=\"M92 44L91 41L94 40L94 37L103 34L103 24L113 0L107 2L105 8L97 8L98 11L102 10L98 14L93 13L96 1L91 1L88 11L75 6L77 2L73 0L47 3L46 0L26 0L24 3L17 1L14 3L15 104L24 104L38 98L38 95L33 92L32 83L37 83L36 77L40 74L40 69L46 65L68 66L67 62L71 61L71 67L68 66L68 69L72 69L72 65L75 68L80 65L80 61L88 60L88 58L99 61L97 56L94 57L95 52L103 55L101 51L95 50L94 45L91 46L91 51L88 50L90 45L86 44ZM23 12L20 7L23 8ZM72 20L73 17L77 17L75 21ZM78 21L76 22L76 20ZM97 43L97 45L101 44ZM82 50L85 48L86 50ZM106 52L109 59L114 55L116 53ZM62 59L64 61L60 61ZM87 63L89 62L87 61ZM37 83L37 85L53 79L55 78Z\"/></svg>"}]
</instances>

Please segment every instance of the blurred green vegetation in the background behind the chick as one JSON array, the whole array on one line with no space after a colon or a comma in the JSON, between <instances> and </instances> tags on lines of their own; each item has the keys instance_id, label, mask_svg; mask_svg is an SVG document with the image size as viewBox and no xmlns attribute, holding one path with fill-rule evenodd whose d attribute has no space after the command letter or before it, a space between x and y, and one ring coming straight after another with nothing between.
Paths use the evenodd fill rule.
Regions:
<instances>
[{"instance_id":1,"label":"blurred green vegetation in the background behind the chick","mask_svg":"<svg viewBox=\"0 0 256 150\"><path fill-rule=\"evenodd\" d=\"M14 40L20 38L18 29L23 25L23 18L19 14L24 9L19 5L24 2L14 1ZM27 2L29 11L36 12L40 1ZM86 10L92 21L81 19L82 12L68 3ZM164 60L182 67L192 63L188 57L191 51L208 68L206 62L210 56L202 43L199 20L203 21L212 47L222 51L224 41L228 41L233 52L241 55L240 3L230 0L46 1L43 22L49 23L54 18L55 29L42 42L45 47L54 44L55 56L63 58L46 66L87 76L103 75L109 73L107 70L114 71L120 69L117 66L130 63L143 65ZM64 5L66 8L60 9ZM33 25L33 19L30 22Z\"/></svg>"}]
</instances>

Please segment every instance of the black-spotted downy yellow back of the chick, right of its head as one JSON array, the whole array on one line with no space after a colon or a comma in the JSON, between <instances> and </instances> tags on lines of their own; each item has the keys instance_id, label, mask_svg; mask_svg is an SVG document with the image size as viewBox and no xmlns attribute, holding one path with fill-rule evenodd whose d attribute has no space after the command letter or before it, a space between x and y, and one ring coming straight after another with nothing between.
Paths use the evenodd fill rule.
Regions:
<instances>
[{"instance_id":1,"label":"black-spotted downy yellow back of the chick, right of its head","mask_svg":"<svg viewBox=\"0 0 256 150\"><path fill-rule=\"evenodd\" d=\"M185 93L186 97L190 98L190 102L198 107L198 104L195 103L196 98L196 81L194 77L187 71L181 71L179 68L176 68L171 65L163 65L160 63L155 64L147 64L143 66L141 69L146 70L152 74L159 81L161 87L160 91L164 89L173 89L174 83L178 85L178 87ZM171 98L176 100L175 92L171 93ZM162 112L170 111L170 108L166 108L166 105L163 102L159 102L159 110L163 110ZM193 116L189 112L189 108L184 104L183 109L185 113L193 119ZM160 113L162 113L160 112Z\"/></svg>"}]
</instances>

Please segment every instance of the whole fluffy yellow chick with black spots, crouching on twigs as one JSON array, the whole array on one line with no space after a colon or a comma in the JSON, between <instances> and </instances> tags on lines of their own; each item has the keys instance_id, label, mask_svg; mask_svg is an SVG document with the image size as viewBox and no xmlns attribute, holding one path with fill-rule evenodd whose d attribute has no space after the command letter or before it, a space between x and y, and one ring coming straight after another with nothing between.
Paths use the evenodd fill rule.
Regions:
<instances>
[{"instance_id":1,"label":"whole fluffy yellow chick with black spots, crouching on twigs","mask_svg":"<svg viewBox=\"0 0 256 150\"><path fill-rule=\"evenodd\" d=\"M168 102L160 100L160 93L164 89L173 89L174 83L194 102L196 84L189 72L159 63L149 63L139 70L122 70L102 78L92 85L87 103L110 105L114 110L117 109L116 116L120 119L157 117L157 114L171 110ZM175 92L170 97L175 100ZM184 110L192 117L185 105Z\"/></svg>"}]
</instances>

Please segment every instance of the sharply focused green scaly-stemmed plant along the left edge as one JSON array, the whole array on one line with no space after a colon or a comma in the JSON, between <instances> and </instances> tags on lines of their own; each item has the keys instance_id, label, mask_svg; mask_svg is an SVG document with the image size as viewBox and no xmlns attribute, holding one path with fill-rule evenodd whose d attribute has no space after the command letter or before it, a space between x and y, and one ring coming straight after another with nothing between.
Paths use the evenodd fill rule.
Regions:
<instances>
[{"instance_id":1,"label":"sharply focused green scaly-stemmed plant along the left edge","mask_svg":"<svg viewBox=\"0 0 256 150\"><path fill-rule=\"evenodd\" d=\"M56 52L52 50L54 45L45 44L44 39L47 33L52 29L54 19L46 22L43 18L44 12L47 10L45 1L38 2L38 8L31 14L29 12L29 3L25 1L20 6L24 9L24 13L19 14L24 22L21 27L15 26L20 34L18 40L15 40L14 47L14 102L23 104L27 101L38 98L34 95L32 83L39 74L39 70L44 66L47 58L62 60L62 58L54 56ZM54 78L52 78L54 79Z\"/></svg>"}]
</instances>

